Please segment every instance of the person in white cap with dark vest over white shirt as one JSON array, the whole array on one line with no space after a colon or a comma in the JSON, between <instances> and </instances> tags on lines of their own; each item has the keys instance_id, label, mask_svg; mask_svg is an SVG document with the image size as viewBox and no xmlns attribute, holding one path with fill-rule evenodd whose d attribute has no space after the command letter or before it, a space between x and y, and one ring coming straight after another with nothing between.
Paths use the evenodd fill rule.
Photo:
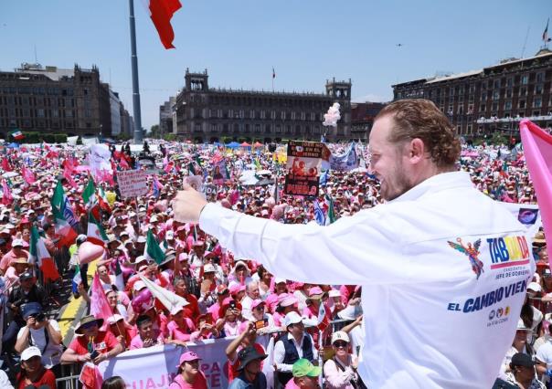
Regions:
<instances>
[{"instance_id":1,"label":"person in white cap with dark vest over white shirt","mask_svg":"<svg viewBox=\"0 0 552 389\"><path fill-rule=\"evenodd\" d=\"M277 380L285 386L292 379L293 363L300 358L310 362L318 358L313 338L304 331L303 318L299 313L291 311L283 319L286 332L274 344L274 364L278 372Z\"/></svg>"}]
</instances>

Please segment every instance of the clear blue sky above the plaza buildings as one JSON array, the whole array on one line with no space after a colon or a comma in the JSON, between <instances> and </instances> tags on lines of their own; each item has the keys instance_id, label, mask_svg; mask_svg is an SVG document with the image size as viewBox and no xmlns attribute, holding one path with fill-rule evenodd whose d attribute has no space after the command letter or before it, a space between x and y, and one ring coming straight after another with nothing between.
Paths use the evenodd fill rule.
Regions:
<instances>
[{"instance_id":1,"label":"clear blue sky above the plaza buildings","mask_svg":"<svg viewBox=\"0 0 552 389\"><path fill-rule=\"evenodd\" d=\"M398 82L534 56L552 16L550 0L180 1L166 50L134 0L146 129L186 68L232 89L271 90L272 68L279 91L351 79L354 101L386 101ZM4 71L35 62L35 50L43 66L96 65L133 113L128 0L0 0L0 47Z\"/></svg>"}]
</instances>

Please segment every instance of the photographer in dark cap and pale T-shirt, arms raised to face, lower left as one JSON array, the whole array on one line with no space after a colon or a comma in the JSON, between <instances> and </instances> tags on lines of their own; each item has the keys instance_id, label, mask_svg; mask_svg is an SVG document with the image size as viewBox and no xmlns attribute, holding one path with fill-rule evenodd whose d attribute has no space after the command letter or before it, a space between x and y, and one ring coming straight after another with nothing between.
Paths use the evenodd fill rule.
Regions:
<instances>
[{"instance_id":1,"label":"photographer in dark cap and pale T-shirt, arms raised to face, lower left","mask_svg":"<svg viewBox=\"0 0 552 389\"><path fill-rule=\"evenodd\" d=\"M21 314L27 325L17 333L16 352L23 352L29 346L37 347L42 354L42 364L58 376L57 366L63 352L58 321L48 320L37 302L23 305Z\"/></svg>"}]
</instances>

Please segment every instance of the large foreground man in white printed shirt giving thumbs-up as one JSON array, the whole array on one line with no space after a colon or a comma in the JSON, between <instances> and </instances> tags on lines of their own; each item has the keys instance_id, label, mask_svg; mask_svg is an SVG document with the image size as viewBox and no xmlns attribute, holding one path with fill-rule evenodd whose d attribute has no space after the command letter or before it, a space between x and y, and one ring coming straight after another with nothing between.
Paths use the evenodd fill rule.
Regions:
<instances>
[{"instance_id":1,"label":"large foreground man in white printed shirt giving thumbs-up","mask_svg":"<svg viewBox=\"0 0 552 389\"><path fill-rule=\"evenodd\" d=\"M460 142L431 101L388 104L369 147L387 203L330 226L242 215L186 185L175 219L199 221L222 247L279 277L362 285L358 372L368 386L491 387L535 272L531 237L456 172Z\"/></svg>"}]
</instances>

